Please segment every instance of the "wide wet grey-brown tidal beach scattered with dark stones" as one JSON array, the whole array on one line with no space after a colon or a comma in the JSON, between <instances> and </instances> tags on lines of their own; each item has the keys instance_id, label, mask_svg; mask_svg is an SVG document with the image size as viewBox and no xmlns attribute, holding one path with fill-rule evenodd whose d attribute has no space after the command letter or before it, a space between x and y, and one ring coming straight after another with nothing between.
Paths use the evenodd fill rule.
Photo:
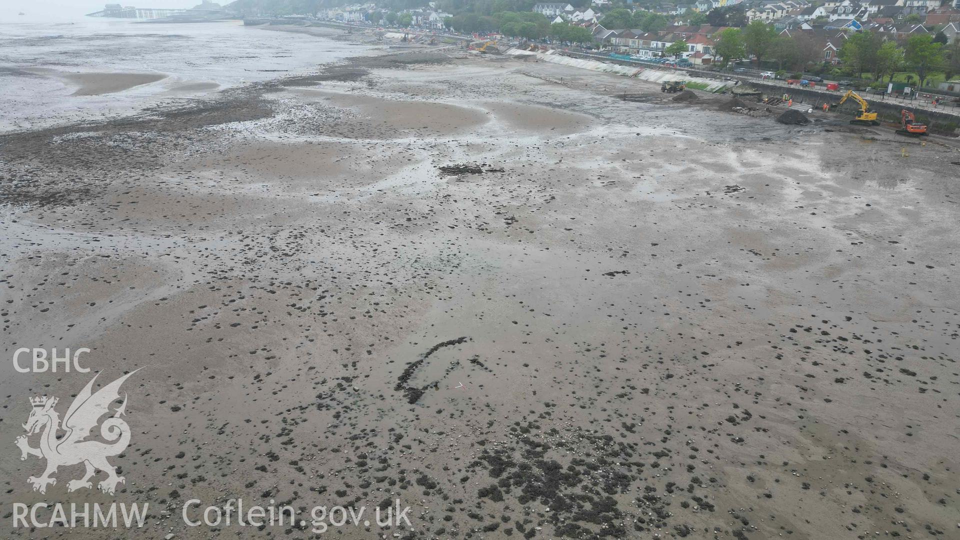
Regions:
<instances>
[{"instance_id":1,"label":"wide wet grey-brown tidal beach scattered with dark stones","mask_svg":"<svg viewBox=\"0 0 960 540\"><path fill-rule=\"evenodd\" d=\"M5 511L147 502L144 539L320 537L180 519L238 498L412 508L348 539L960 531L956 140L455 48L210 95L0 135L4 355L142 368L109 496L67 493L81 466L33 491L13 446L92 372L0 364Z\"/></svg>"}]
</instances>

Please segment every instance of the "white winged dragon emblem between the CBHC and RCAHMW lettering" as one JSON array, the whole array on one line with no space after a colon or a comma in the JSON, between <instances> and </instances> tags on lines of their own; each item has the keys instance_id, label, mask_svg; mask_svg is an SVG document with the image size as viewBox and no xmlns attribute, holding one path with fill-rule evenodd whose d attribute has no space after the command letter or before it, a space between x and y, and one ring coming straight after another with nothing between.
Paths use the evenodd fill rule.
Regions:
<instances>
[{"instance_id":1,"label":"white winged dragon emblem between the CBHC and RCAHMW lettering","mask_svg":"<svg viewBox=\"0 0 960 540\"><path fill-rule=\"evenodd\" d=\"M117 476L116 468L108 463L107 458L122 453L130 444L130 426L120 418L120 415L126 413L126 394L124 394L123 404L113 411L113 416L99 424L102 438L107 441L120 440L108 444L98 440L84 439L90 436L90 430L98 426L100 418L110 412L109 405L120 399L120 385L137 371L139 369L92 393L93 381L97 380L100 374L95 375L70 404L63 419L62 428L60 428L60 415L54 410L54 405L57 405L60 400L46 396L30 399L30 405L34 408L30 411L27 423L23 425L27 435L17 437L16 446L20 448L20 459L26 459L27 455L36 455L47 460L47 469L40 478L27 479L34 485L34 491L46 493L48 484L57 484L57 479L51 478L50 475L56 473L58 467L78 463L84 463L86 473L83 479L68 481L67 491L76 491L82 487L92 489L93 484L89 480L96 474L96 470L104 471L108 475L107 479L97 484L97 487L108 495L114 494L117 484L125 482L123 477ZM40 430L43 430L43 434L40 435L40 446L33 448L27 437ZM58 438L58 430L66 431L66 434Z\"/></svg>"}]
</instances>

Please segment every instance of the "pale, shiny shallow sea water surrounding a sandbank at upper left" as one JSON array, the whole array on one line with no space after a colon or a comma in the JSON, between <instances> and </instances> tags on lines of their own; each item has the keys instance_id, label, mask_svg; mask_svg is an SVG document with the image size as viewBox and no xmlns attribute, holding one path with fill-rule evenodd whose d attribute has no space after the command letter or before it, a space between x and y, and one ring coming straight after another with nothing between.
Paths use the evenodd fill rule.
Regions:
<instances>
[{"instance_id":1,"label":"pale, shiny shallow sea water surrounding a sandbank at upper left","mask_svg":"<svg viewBox=\"0 0 960 540\"><path fill-rule=\"evenodd\" d=\"M103 119L360 54L363 46L239 21L157 24L77 17L0 21L0 132ZM165 75L149 85L73 95L70 74Z\"/></svg>"}]
</instances>

